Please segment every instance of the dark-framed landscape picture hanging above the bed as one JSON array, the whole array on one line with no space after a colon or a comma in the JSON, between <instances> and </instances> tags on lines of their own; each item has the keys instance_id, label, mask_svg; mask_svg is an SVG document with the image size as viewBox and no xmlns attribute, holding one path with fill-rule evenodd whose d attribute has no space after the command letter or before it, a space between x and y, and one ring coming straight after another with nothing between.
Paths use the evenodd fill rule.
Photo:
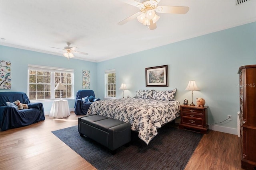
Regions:
<instances>
[{"instance_id":1,"label":"dark-framed landscape picture hanging above the bed","mask_svg":"<svg viewBox=\"0 0 256 170\"><path fill-rule=\"evenodd\" d=\"M168 87L168 65L145 68L146 87Z\"/></svg>"}]
</instances>

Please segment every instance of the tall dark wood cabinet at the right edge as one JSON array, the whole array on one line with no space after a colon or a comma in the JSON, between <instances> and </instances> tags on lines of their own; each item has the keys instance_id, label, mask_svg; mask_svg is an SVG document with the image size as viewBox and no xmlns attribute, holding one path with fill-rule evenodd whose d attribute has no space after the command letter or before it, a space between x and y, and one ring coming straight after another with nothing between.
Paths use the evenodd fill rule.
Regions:
<instances>
[{"instance_id":1,"label":"tall dark wood cabinet at the right edge","mask_svg":"<svg viewBox=\"0 0 256 170\"><path fill-rule=\"evenodd\" d=\"M256 65L241 66L240 74L240 143L242 168L256 169Z\"/></svg>"}]
</instances>

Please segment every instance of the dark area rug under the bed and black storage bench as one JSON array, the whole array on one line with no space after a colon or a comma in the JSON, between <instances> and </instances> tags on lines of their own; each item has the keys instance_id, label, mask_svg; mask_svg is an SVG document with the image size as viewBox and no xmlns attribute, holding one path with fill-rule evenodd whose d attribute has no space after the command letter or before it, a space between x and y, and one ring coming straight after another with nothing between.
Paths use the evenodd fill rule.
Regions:
<instances>
[{"instance_id":1,"label":"dark area rug under the bed and black storage bench","mask_svg":"<svg viewBox=\"0 0 256 170\"><path fill-rule=\"evenodd\" d=\"M112 155L106 147L80 137L78 126L52 133L98 170L183 170L203 136L168 123L158 129L149 145L132 132L130 146L120 147Z\"/></svg>"}]
</instances>

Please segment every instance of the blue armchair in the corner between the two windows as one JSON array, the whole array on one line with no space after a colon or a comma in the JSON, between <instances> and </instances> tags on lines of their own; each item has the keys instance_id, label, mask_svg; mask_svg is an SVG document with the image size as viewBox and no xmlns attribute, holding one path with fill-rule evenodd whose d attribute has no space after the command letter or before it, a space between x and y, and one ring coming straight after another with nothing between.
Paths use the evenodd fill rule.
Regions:
<instances>
[{"instance_id":1,"label":"blue armchair in the corner between the two windows","mask_svg":"<svg viewBox=\"0 0 256 170\"><path fill-rule=\"evenodd\" d=\"M78 90L76 92L75 100L75 114L76 115L86 115L92 102L100 100L95 98L93 90Z\"/></svg>"}]
</instances>

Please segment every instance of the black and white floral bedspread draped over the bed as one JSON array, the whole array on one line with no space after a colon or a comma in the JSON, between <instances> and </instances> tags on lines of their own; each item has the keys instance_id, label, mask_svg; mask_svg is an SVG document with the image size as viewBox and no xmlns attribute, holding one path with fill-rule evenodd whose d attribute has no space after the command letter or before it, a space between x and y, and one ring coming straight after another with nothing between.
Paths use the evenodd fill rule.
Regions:
<instances>
[{"instance_id":1,"label":"black and white floral bedspread draped over the bed","mask_svg":"<svg viewBox=\"0 0 256 170\"><path fill-rule=\"evenodd\" d=\"M148 145L158 128L180 116L180 103L142 98L101 100L93 102L87 112L95 113L129 122L132 131L138 131L139 138Z\"/></svg>"}]
</instances>

